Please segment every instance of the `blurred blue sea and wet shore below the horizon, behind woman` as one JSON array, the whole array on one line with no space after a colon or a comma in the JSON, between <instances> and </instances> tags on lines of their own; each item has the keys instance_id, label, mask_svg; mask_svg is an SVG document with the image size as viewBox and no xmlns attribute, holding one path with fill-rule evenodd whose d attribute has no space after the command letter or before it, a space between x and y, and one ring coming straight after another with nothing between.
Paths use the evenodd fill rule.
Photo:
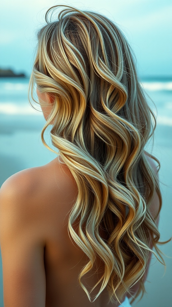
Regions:
<instances>
[{"instance_id":1,"label":"blurred blue sea and wet shore below the horizon, behind woman","mask_svg":"<svg viewBox=\"0 0 172 307\"><path fill-rule=\"evenodd\" d=\"M28 103L28 78L0 78L0 186L14 173L29 167L44 165L56 155L43 146L40 133L45 119L40 107L34 110ZM172 236L172 79L141 80L142 86L154 104L148 98L151 107L157 112L157 128L153 154L160 160L159 178L163 195L159 231L161 240ZM48 132L45 140L50 145ZM51 146L51 145L50 145ZM161 250L172 257L172 244L160 246ZM0 255L1 256L1 255ZM165 258L164 268L152 257L145 283L147 294L137 307L169 307L172 296L171 271L172 259ZM0 258L0 307L3 307L2 263Z\"/></svg>"}]
</instances>

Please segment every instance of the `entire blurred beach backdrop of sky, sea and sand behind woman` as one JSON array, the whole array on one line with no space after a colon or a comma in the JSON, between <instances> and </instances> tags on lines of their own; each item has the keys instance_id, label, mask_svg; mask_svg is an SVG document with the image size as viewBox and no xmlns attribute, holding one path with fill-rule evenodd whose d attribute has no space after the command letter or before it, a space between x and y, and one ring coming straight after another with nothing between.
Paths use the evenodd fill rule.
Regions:
<instances>
[{"instance_id":1,"label":"entire blurred beach backdrop of sky, sea and sand behind woman","mask_svg":"<svg viewBox=\"0 0 172 307\"><path fill-rule=\"evenodd\" d=\"M55 158L40 138L45 119L38 106L28 103L28 82L36 47L36 30L43 26L50 6L72 5L94 10L115 21L136 55L136 66L148 102L156 113L154 147L149 151L160 160L159 178L163 195L159 231L161 241L172 235L172 37L171 0L1 1L0 12L0 186L22 169L44 165ZM8 70L8 71L7 71ZM6 75L6 76L5 76ZM18 76L17 76L18 75ZM10 77L9 77L10 76ZM50 145L49 133L45 137ZM52 145L50 145L52 147ZM152 151L151 151L152 150ZM145 287L147 294L132 306L172 306L172 243L160 246L164 266L152 256ZM0 258L0 307L3 307Z\"/></svg>"}]
</instances>

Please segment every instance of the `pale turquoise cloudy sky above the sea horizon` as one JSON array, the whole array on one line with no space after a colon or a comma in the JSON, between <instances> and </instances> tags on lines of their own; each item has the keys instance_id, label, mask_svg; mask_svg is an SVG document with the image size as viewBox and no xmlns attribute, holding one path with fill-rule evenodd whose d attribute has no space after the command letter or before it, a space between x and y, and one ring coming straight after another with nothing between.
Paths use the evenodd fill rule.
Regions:
<instances>
[{"instance_id":1,"label":"pale turquoise cloudy sky above the sea horizon","mask_svg":"<svg viewBox=\"0 0 172 307\"><path fill-rule=\"evenodd\" d=\"M46 10L56 4L98 11L115 21L136 54L140 76L172 75L171 0L1 0L1 68L30 75L35 32L43 25Z\"/></svg>"}]
</instances>

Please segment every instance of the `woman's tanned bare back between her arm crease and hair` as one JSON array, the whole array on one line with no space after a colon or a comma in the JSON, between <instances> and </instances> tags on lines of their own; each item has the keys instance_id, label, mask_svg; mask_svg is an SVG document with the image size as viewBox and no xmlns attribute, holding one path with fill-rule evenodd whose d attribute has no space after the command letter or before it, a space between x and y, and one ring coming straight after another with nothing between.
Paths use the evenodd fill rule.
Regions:
<instances>
[{"instance_id":1,"label":"woman's tanned bare back between her arm crease and hair","mask_svg":"<svg viewBox=\"0 0 172 307\"><path fill-rule=\"evenodd\" d=\"M46 211L45 222L40 224L46 238L44 265L46 272L46 307L92 307L93 303L78 282L78 275L88 263L88 257L69 238L68 218L72 204L77 196L77 185L68 167L54 159L41 168L41 206ZM77 232L77 223L74 227ZM106 234L102 233L105 238ZM99 272L103 272L103 263L97 259ZM90 291L102 274L94 274L96 267L84 276L82 282ZM92 291L91 297L99 292L100 286ZM125 297L124 297L125 298ZM104 290L94 302L95 307L111 307L108 292ZM118 306L113 304L113 307Z\"/></svg>"}]
</instances>

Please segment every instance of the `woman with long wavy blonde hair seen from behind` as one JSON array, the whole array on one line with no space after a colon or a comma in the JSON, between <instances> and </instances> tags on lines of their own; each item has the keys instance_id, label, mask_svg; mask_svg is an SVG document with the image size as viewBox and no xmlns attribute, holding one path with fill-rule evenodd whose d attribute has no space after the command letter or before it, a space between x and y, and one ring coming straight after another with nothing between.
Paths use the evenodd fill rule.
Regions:
<instances>
[{"instance_id":1,"label":"woman with long wavy blonde hair seen from behind","mask_svg":"<svg viewBox=\"0 0 172 307\"><path fill-rule=\"evenodd\" d=\"M42 141L52 125L59 152L2 185L4 304L127 307L145 291L153 247L163 260L158 160L144 150L155 117L117 25L71 6L49 20L57 7L38 33L30 88Z\"/></svg>"}]
</instances>

